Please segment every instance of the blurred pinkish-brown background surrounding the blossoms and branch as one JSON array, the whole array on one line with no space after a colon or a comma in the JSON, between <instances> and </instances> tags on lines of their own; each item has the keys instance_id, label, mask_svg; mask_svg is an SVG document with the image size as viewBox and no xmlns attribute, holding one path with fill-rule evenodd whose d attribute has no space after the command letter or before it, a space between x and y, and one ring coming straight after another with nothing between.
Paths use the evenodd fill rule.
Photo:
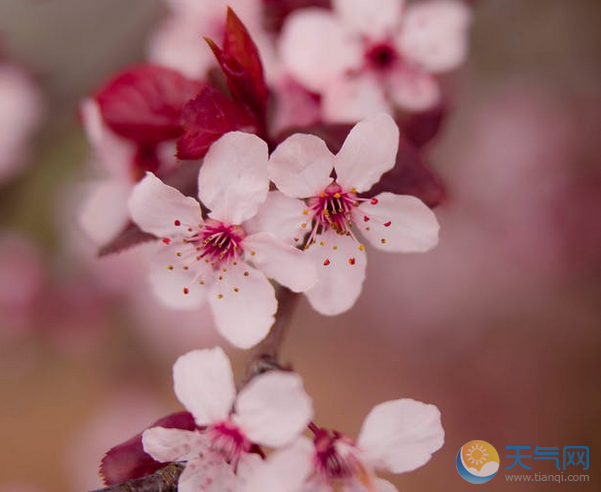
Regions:
<instances>
[{"instance_id":1,"label":"blurred pinkish-brown background surrounding the blossoms and branch","mask_svg":"<svg viewBox=\"0 0 601 492\"><path fill-rule=\"evenodd\" d=\"M131 253L95 259L73 221L88 177L77 106L144 58L164 14L159 0L0 0L2 52L44 100L27 167L0 186L2 491L100 486L104 451L179 408L177 355L225 345L206 313L163 312L122 281ZM354 309L325 318L302 301L284 358L317 421L350 435L387 399L440 407L446 445L394 479L401 491L473 487L455 455L474 439L502 467L505 446L590 447L588 483L501 471L487 490L600 490L601 3L481 0L470 38L428 151L449 187L440 245L370 251ZM240 369L247 355L228 350Z\"/></svg>"}]
</instances>

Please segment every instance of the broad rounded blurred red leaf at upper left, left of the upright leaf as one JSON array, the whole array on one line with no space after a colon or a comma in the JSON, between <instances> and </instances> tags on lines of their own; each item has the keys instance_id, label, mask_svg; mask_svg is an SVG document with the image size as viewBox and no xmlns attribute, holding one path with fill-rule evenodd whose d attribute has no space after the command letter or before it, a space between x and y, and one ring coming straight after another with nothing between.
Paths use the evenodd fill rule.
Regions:
<instances>
[{"instance_id":1,"label":"broad rounded blurred red leaf at upper left, left of the upright leaf","mask_svg":"<svg viewBox=\"0 0 601 492\"><path fill-rule=\"evenodd\" d=\"M148 146L181 134L182 108L204 87L175 70L139 65L109 81L96 100L115 133Z\"/></svg>"}]
</instances>

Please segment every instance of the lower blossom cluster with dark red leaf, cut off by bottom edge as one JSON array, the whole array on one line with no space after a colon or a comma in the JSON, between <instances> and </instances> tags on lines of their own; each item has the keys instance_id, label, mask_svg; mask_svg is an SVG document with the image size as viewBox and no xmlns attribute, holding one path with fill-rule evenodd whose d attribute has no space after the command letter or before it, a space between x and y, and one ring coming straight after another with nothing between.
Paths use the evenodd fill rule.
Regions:
<instances>
[{"instance_id":1,"label":"lower blossom cluster with dark red leaf, cut off by bottom edge","mask_svg":"<svg viewBox=\"0 0 601 492\"><path fill-rule=\"evenodd\" d=\"M173 379L188 412L162 419L109 451L101 467L108 483L177 462L185 463L181 492L393 492L394 485L376 473L414 470L444 441L438 409L411 399L376 405L357 439L318 427L297 374L261 374L236 392L219 348L181 356ZM265 459L266 449L271 453ZM155 467L145 463L143 451L158 462Z\"/></svg>"}]
</instances>

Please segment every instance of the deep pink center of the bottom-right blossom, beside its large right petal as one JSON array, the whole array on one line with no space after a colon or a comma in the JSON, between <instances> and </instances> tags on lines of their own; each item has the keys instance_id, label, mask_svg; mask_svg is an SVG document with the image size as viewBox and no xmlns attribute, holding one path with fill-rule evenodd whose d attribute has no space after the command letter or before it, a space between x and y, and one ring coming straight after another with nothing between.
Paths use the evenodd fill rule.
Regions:
<instances>
[{"instance_id":1,"label":"deep pink center of the bottom-right blossom, beside its large right petal","mask_svg":"<svg viewBox=\"0 0 601 492\"><path fill-rule=\"evenodd\" d=\"M353 441L334 431L320 429L315 436L315 468L329 480L356 477L363 466L353 453ZM344 452L344 451L347 452Z\"/></svg>"}]
</instances>

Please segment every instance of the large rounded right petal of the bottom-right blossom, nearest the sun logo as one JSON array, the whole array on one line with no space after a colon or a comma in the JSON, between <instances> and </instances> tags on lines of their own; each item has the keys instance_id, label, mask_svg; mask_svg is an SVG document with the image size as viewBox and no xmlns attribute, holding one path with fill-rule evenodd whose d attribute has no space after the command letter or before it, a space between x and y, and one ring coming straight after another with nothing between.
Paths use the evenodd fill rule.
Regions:
<instances>
[{"instance_id":1,"label":"large rounded right petal of the bottom-right blossom, nearest the sun logo","mask_svg":"<svg viewBox=\"0 0 601 492\"><path fill-rule=\"evenodd\" d=\"M366 459L392 473L424 465L443 443L438 408L411 399L376 405L363 422L357 440Z\"/></svg>"}]
</instances>

